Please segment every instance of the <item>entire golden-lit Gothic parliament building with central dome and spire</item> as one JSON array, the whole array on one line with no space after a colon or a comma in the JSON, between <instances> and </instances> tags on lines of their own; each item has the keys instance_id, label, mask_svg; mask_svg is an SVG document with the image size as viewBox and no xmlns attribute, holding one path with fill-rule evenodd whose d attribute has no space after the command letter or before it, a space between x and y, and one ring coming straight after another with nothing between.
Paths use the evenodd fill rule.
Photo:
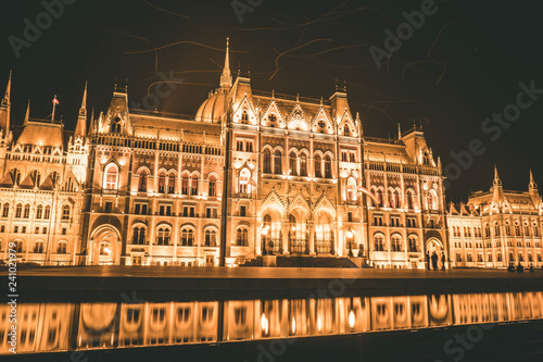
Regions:
<instances>
[{"instance_id":1,"label":"entire golden-lit Gothic parliament building with central dome and spire","mask_svg":"<svg viewBox=\"0 0 543 362\"><path fill-rule=\"evenodd\" d=\"M254 90L232 77L228 47L218 87L193 116L129 109L115 86L109 109L89 117L85 86L75 130L33 117L30 103L17 126L11 82L0 108L4 261L14 244L18 261L45 265L239 265L273 254L425 269L433 253L444 267L502 267L510 253L542 264L533 179L528 194L495 179L490 194L446 208L421 127L366 136L344 88L328 99ZM469 244L457 233L468 224Z\"/></svg>"}]
</instances>

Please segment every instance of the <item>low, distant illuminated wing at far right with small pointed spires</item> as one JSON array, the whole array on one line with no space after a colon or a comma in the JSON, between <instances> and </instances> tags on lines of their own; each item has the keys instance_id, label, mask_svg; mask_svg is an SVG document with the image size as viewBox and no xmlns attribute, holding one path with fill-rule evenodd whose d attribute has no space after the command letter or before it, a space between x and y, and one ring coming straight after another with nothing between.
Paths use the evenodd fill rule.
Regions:
<instances>
[{"instance_id":1,"label":"low, distant illuminated wing at far right with small pointed spires","mask_svg":"<svg viewBox=\"0 0 543 362\"><path fill-rule=\"evenodd\" d=\"M456 267L541 267L543 203L530 171L528 191L504 190L494 171L490 191L450 207L451 259Z\"/></svg>"}]
</instances>

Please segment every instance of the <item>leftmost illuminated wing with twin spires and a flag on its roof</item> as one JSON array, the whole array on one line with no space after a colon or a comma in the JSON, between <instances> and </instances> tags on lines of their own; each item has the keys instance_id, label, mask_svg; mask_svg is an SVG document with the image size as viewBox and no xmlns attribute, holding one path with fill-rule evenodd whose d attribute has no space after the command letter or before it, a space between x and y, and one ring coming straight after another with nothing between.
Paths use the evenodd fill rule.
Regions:
<instances>
[{"instance_id":1,"label":"leftmost illuminated wing with twin spires and a flag on its roof","mask_svg":"<svg viewBox=\"0 0 543 362\"><path fill-rule=\"evenodd\" d=\"M11 124L11 75L0 107L0 250L17 261L74 264L81 241L83 185L89 145L86 90L75 132L30 117Z\"/></svg>"}]
</instances>

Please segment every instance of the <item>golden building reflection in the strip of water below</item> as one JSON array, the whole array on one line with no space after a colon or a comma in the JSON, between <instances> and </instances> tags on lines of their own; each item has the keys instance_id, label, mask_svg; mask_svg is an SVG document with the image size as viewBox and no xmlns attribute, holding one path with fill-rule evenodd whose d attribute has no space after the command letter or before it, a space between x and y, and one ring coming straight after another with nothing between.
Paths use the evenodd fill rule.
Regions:
<instances>
[{"instance_id":1,"label":"golden building reflection in the strip of water below","mask_svg":"<svg viewBox=\"0 0 543 362\"><path fill-rule=\"evenodd\" d=\"M9 305L0 354L9 354ZM17 307L17 352L211 344L543 319L543 292ZM220 322L220 323L219 323Z\"/></svg>"}]
</instances>

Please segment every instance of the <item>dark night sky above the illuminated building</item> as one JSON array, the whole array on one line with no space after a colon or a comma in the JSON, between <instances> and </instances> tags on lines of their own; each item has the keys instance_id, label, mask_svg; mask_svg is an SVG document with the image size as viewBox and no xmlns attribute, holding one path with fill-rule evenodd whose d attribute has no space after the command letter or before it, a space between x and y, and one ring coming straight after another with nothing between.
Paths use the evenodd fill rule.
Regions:
<instances>
[{"instance_id":1,"label":"dark night sky above the illuminated building","mask_svg":"<svg viewBox=\"0 0 543 362\"><path fill-rule=\"evenodd\" d=\"M527 189L530 167L543 187L543 95L497 139L481 130L493 112L515 103L519 83L543 89L538 1L437 0L428 8L433 14L412 34L403 33L405 40L389 47L392 52L384 32L407 32L399 27L402 13L420 11L427 1L239 0L247 10L241 23L243 10L237 15L229 0L71 1L39 38L20 48L18 58L10 39L25 39L25 18L47 21L46 8L34 0L2 7L0 88L13 70L16 124L28 99L31 116L46 117L58 95L58 114L73 129L85 80L88 107L100 112L115 78L123 86L128 78L130 103L142 103L149 86L162 80L157 72L174 72L182 83L159 110L193 115L218 86L217 64L224 63L229 36L232 71L250 71L253 89L326 99L334 79L346 82L351 109L361 112L368 137L396 137L397 123L406 130L417 120L444 167L454 162L451 152L480 139L487 150L451 183L450 200L489 189L494 163L506 189ZM153 45L164 48L155 52ZM380 68L369 51L376 47L390 54Z\"/></svg>"}]
</instances>

